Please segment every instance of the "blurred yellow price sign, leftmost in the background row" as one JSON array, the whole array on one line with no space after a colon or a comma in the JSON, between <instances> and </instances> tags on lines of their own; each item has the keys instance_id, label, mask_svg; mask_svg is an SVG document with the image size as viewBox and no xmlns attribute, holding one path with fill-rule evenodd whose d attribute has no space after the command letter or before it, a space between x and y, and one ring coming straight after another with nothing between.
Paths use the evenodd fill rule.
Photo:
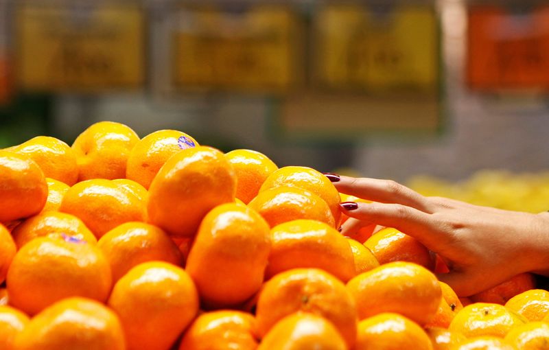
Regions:
<instances>
[{"instance_id":1,"label":"blurred yellow price sign, leftmost in the background row","mask_svg":"<svg viewBox=\"0 0 549 350\"><path fill-rule=\"evenodd\" d=\"M23 89L104 91L143 84L142 8L86 4L24 3L16 8L16 76Z\"/></svg>"}]
</instances>

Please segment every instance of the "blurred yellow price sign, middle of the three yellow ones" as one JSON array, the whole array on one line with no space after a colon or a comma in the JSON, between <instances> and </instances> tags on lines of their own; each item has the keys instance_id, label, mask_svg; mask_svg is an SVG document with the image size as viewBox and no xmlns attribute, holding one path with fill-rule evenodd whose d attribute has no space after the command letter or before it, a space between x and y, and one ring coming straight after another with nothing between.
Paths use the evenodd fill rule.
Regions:
<instances>
[{"instance_id":1,"label":"blurred yellow price sign, middle of the three yellow ones","mask_svg":"<svg viewBox=\"0 0 549 350\"><path fill-rule=\"evenodd\" d=\"M182 10L174 82L183 89L283 92L296 82L296 32L292 12L281 6Z\"/></svg>"}]
</instances>

